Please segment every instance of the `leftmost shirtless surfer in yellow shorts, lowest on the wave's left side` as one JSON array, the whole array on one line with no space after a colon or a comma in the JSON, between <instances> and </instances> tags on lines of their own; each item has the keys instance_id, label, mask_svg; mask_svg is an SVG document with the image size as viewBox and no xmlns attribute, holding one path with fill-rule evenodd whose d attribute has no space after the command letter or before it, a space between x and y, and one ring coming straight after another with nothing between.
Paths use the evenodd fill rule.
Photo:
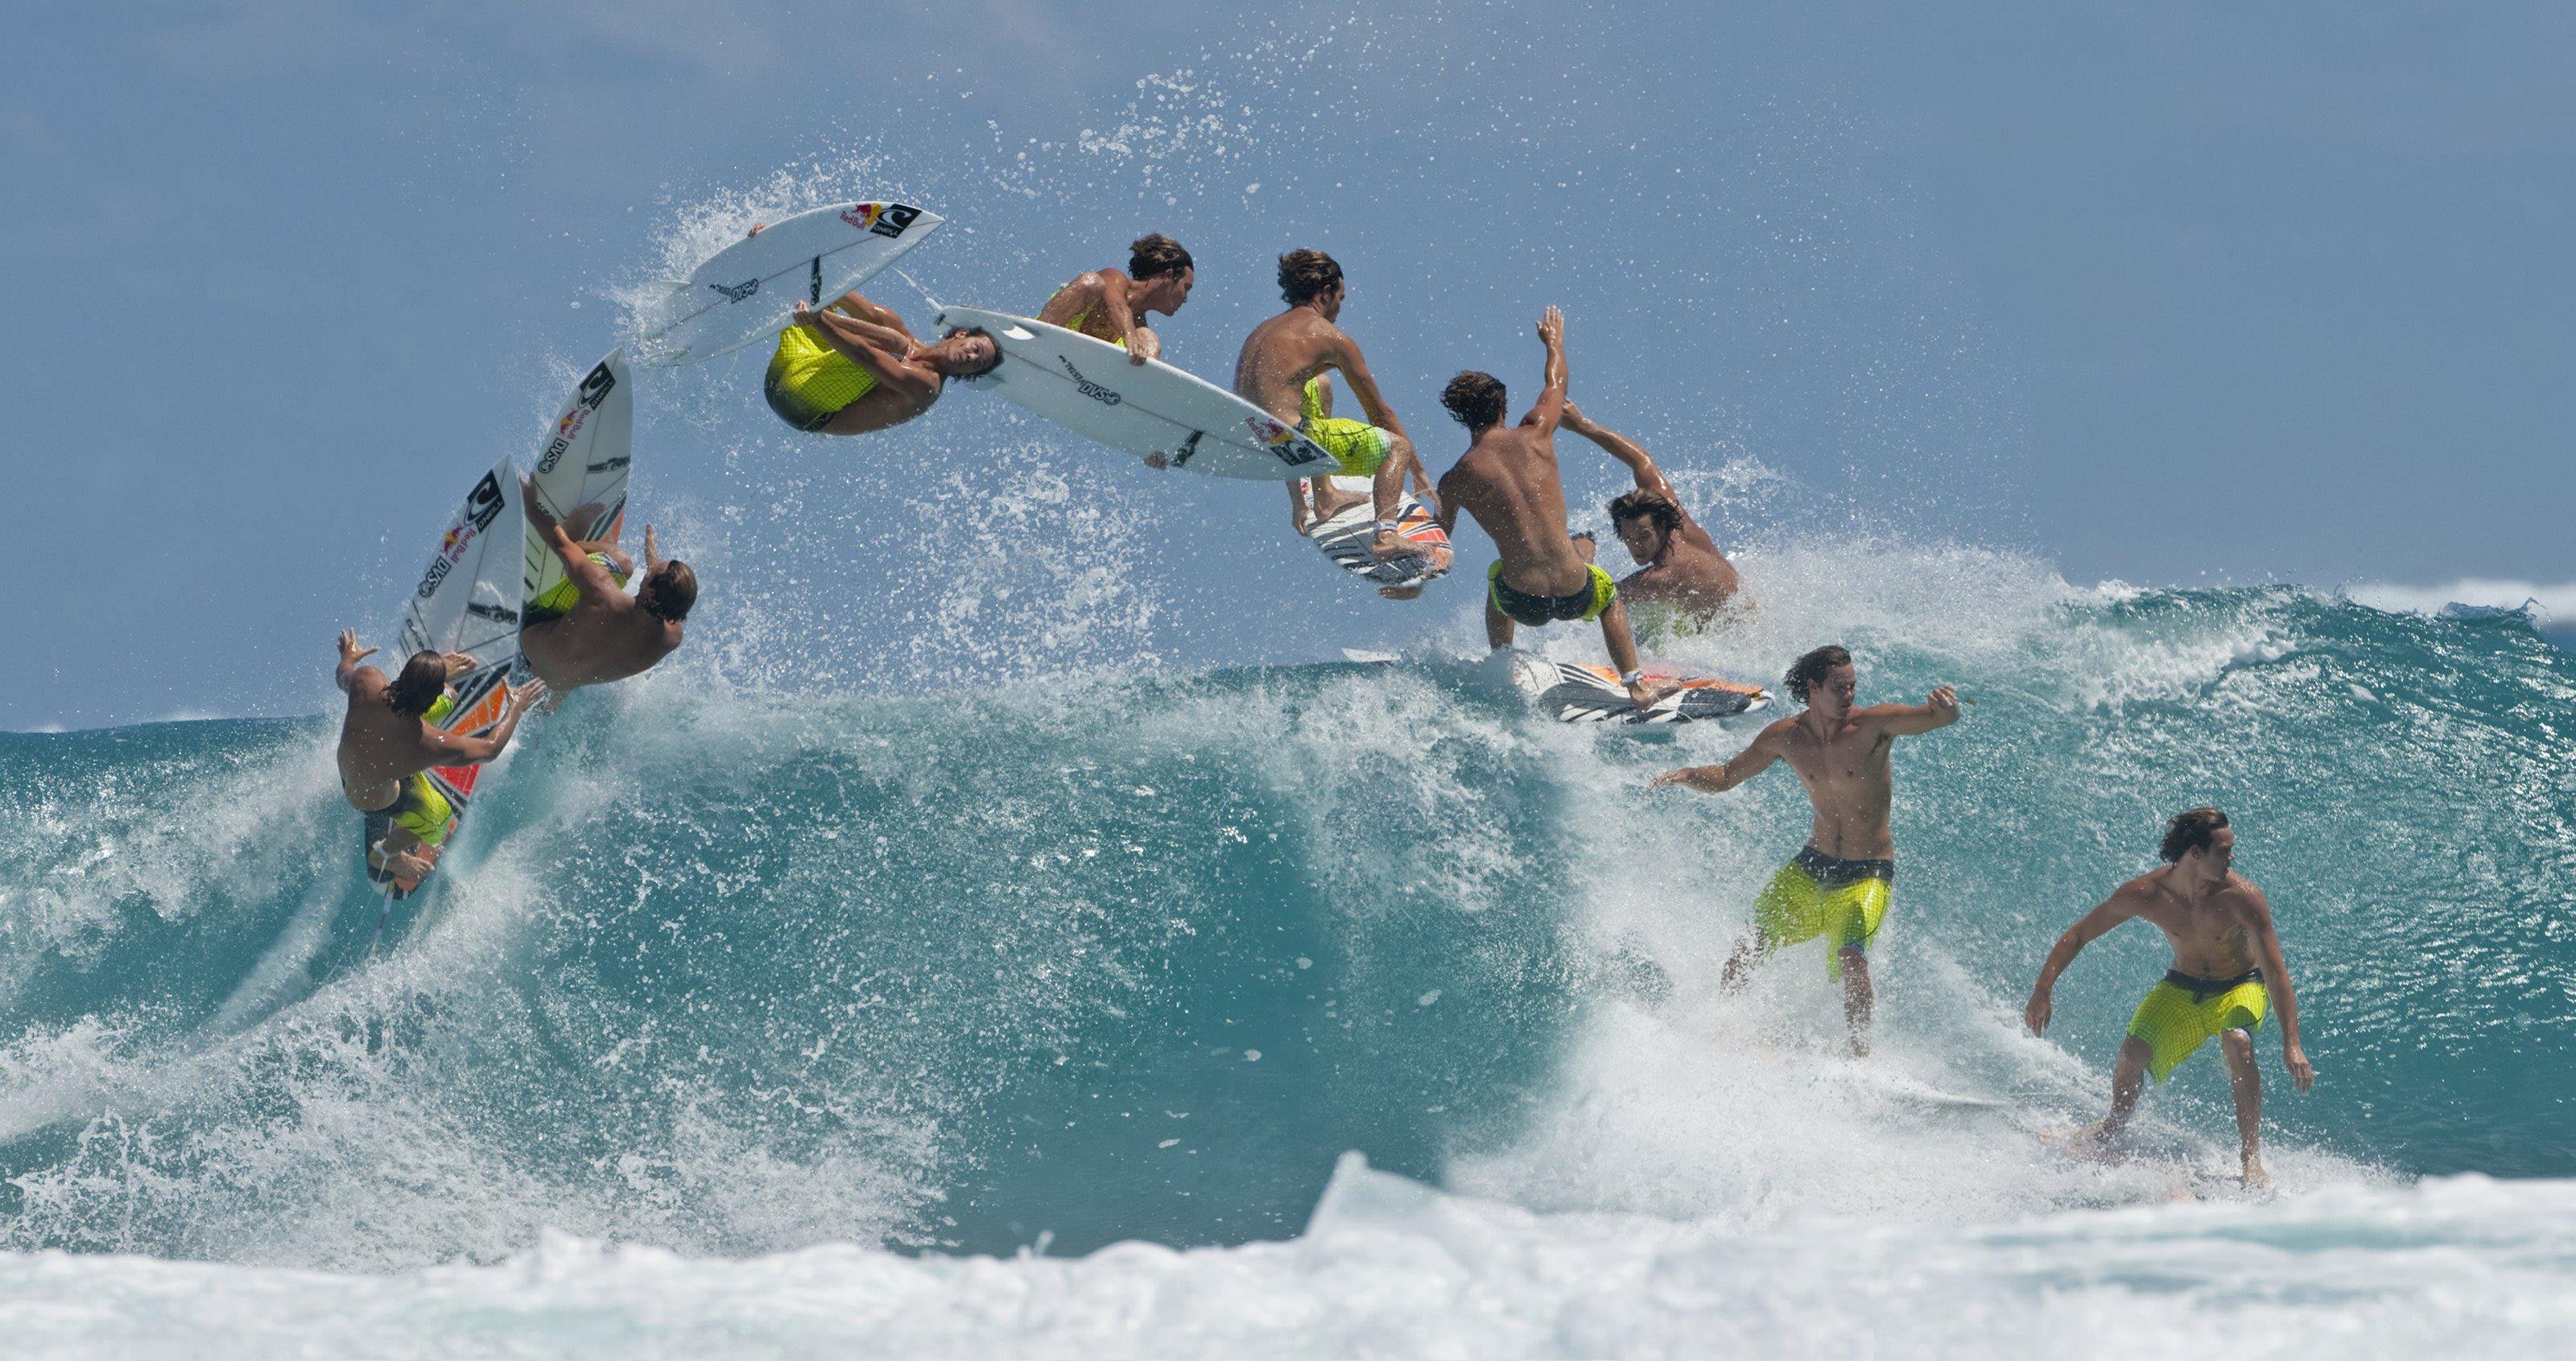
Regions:
<instances>
[{"instance_id":1,"label":"leftmost shirtless surfer in yellow shorts, lowest on the wave's left side","mask_svg":"<svg viewBox=\"0 0 2576 1361\"><path fill-rule=\"evenodd\" d=\"M510 691L489 737L459 737L430 724L456 704L448 680L471 670L474 657L412 652L402 675L386 680L384 670L358 665L374 652L358 647L358 629L340 632L340 670L332 678L348 693L348 714L340 719L340 794L366 815L371 876L410 892L438 864L438 848L456 827L456 809L428 768L482 766L500 755L544 686Z\"/></svg>"}]
</instances>

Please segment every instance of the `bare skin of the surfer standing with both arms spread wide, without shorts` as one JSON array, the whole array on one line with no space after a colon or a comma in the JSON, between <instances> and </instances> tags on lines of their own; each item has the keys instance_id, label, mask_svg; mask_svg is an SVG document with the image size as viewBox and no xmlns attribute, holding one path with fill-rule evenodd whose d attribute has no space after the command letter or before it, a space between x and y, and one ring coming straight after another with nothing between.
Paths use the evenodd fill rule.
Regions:
<instances>
[{"instance_id":1,"label":"bare skin of the surfer standing with both arms spread wide, without shorts","mask_svg":"<svg viewBox=\"0 0 2576 1361\"><path fill-rule=\"evenodd\" d=\"M1816 809L1816 822L1806 843L1842 861L1893 861L1896 833L1888 827L1888 807L1896 802L1896 771L1888 753L1896 737L1914 737L1958 722L1958 693L1950 686L1935 688L1924 704L1870 704L1855 709L1860 675L1850 665L1824 673L1806 693L1798 717L1765 727L1749 748L1723 766L1685 766L1654 776L1646 789L1680 784L1700 794L1726 794L1728 789L1770 771L1785 760L1806 786L1806 799ZM1741 987L1747 969L1767 951L1770 941L1757 931L1736 946L1721 974L1723 987ZM1842 1016L1852 1026L1852 1054L1868 1054L1870 1010L1878 995L1870 987L1870 956L1857 943L1842 949Z\"/></svg>"}]
</instances>

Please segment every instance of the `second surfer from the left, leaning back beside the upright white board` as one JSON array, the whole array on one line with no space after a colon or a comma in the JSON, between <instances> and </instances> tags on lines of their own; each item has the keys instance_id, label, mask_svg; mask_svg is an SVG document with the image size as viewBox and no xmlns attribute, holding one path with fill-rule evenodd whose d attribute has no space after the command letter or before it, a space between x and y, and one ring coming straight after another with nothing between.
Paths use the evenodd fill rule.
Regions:
<instances>
[{"instance_id":1,"label":"second surfer from the left, leaning back beside the upright white board","mask_svg":"<svg viewBox=\"0 0 2576 1361\"><path fill-rule=\"evenodd\" d=\"M626 595L626 572L634 562L613 541L574 544L572 534L538 505L536 487L526 479L520 479L520 505L528 508L528 523L554 557L564 559L564 585L531 601L528 624L518 634L528 670L549 691L564 696L582 686L623 680L680 647L680 621L698 603L698 575L688 562L662 557L652 526L644 526L644 585Z\"/></svg>"}]
</instances>

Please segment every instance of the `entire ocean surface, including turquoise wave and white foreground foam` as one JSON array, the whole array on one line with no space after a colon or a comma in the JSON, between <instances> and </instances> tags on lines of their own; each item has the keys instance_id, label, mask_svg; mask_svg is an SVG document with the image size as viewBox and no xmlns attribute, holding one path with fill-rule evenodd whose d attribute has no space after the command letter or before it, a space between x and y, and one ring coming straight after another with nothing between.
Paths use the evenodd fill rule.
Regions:
<instances>
[{"instance_id":1,"label":"entire ocean surface, including turquoise wave and white foreground foam","mask_svg":"<svg viewBox=\"0 0 2576 1361\"><path fill-rule=\"evenodd\" d=\"M1878 1054L1816 946L1718 964L1795 781L1540 722L1468 613L1396 665L793 686L683 655L355 861L335 722L0 735L13 1356L2537 1356L2576 1325L2576 655L2530 616L1775 541L1654 652L1896 755ZM1574 657L1595 644L1558 629ZM2215 802L2318 1083L2259 1036L2099 1114ZM1947 1096L1984 1098L1963 1106Z\"/></svg>"}]
</instances>

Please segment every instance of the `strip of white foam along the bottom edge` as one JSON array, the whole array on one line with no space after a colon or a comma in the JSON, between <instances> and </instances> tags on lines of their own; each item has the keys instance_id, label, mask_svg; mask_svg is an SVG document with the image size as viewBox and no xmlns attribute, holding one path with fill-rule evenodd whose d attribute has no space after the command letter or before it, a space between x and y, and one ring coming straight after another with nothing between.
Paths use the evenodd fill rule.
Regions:
<instances>
[{"instance_id":1,"label":"strip of white foam along the bottom edge","mask_svg":"<svg viewBox=\"0 0 2576 1361\"><path fill-rule=\"evenodd\" d=\"M693 1260L546 1235L340 1276L0 1258L18 1356L2537 1356L2576 1327L2576 1181L2347 1186L2009 1227L1765 1235L1533 1214L1345 1155L1303 1235L1084 1258L827 1245Z\"/></svg>"}]
</instances>

